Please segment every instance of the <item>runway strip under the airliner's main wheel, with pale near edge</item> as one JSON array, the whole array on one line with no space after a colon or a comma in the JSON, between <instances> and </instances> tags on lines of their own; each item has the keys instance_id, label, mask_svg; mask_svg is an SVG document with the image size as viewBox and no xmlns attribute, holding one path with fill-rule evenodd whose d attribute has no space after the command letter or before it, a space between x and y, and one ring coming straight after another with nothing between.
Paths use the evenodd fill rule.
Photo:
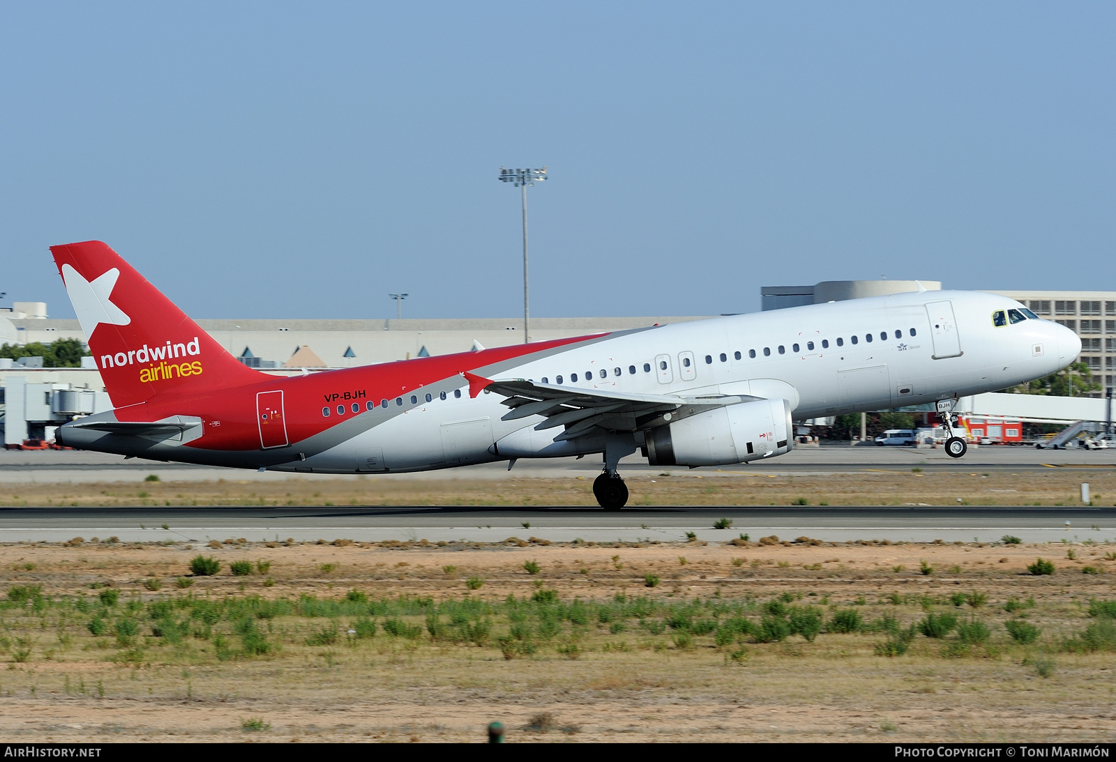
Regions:
<instances>
[{"instance_id":1,"label":"runway strip under the airliner's main wheel, with pale near edge","mask_svg":"<svg viewBox=\"0 0 1116 762\"><path fill-rule=\"evenodd\" d=\"M731 529L713 529L718 519ZM807 536L827 541L1113 542L1116 508L8 508L0 509L0 542L59 542L74 537L122 542L246 538L299 541L345 538L499 542L538 537L552 542L706 541L742 533L752 540Z\"/></svg>"}]
</instances>

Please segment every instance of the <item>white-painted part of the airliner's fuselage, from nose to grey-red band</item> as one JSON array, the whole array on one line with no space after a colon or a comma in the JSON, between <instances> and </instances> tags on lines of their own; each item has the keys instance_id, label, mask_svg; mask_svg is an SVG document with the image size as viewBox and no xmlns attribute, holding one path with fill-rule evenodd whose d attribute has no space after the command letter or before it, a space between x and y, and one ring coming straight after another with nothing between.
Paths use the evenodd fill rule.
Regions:
<instances>
[{"instance_id":1,"label":"white-painted part of the airliner's fuselage, from nose to grey-red band","mask_svg":"<svg viewBox=\"0 0 1116 762\"><path fill-rule=\"evenodd\" d=\"M782 398L801 421L1001 389L1071 363L1080 340L1062 326L994 325L995 311L1020 308L982 292L899 293L612 334L474 373L627 394ZM432 402L307 457L299 470L368 470L367 453L376 453L378 471L501 460L497 443L542 421L501 419L502 397L470 397L461 376L423 390ZM546 442L561 431L547 430Z\"/></svg>"}]
</instances>

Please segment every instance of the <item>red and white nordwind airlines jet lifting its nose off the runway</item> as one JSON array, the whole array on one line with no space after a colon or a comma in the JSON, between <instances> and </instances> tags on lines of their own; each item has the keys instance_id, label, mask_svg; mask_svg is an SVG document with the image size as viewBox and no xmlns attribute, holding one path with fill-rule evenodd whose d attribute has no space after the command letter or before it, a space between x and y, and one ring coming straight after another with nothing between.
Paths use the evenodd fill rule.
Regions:
<instances>
[{"instance_id":1,"label":"red and white nordwind airlines jet lifting its nose off the runway","mask_svg":"<svg viewBox=\"0 0 1116 762\"><path fill-rule=\"evenodd\" d=\"M920 291L302 376L246 367L99 241L52 247L115 409L70 447L312 473L395 473L602 453L727 465L793 447L792 421L935 402L1069 365L1081 343L991 293ZM952 435L945 450L965 453ZM510 464L509 464L510 467Z\"/></svg>"}]
</instances>

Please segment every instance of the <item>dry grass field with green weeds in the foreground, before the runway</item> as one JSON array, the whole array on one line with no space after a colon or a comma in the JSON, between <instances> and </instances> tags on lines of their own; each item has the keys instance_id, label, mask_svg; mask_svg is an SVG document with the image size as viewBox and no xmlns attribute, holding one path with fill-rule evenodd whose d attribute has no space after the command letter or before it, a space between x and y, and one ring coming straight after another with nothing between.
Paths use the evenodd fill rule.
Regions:
<instances>
[{"instance_id":1,"label":"dry grass field with green weeds in the foreground, before the runway","mask_svg":"<svg viewBox=\"0 0 1116 762\"><path fill-rule=\"evenodd\" d=\"M1116 740L1110 546L229 540L0 547L6 740Z\"/></svg>"}]
</instances>

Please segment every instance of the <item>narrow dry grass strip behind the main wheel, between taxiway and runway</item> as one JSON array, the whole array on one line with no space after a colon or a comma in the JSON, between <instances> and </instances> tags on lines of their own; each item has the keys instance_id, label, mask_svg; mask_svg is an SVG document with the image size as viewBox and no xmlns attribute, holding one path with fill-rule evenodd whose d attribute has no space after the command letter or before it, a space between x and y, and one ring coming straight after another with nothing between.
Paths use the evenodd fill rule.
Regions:
<instances>
[{"instance_id":1,"label":"narrow dry grass strip behind the main wheel, between taxiway and runway","mask_svg":"<svg viewBox=\"0 0 1116 762\"><path fill-rule=\"evenodd\" d=\"M1083 481L1116 504L1116 469L953 473L920 466L878 473L770 475L759 471L627 475L639 505L1072 505ZM8 483L0 505L595 505L591 478L229 479L213 482ZM805 502L804 502L805 501Z\"/></svg>"}]
</instances>

